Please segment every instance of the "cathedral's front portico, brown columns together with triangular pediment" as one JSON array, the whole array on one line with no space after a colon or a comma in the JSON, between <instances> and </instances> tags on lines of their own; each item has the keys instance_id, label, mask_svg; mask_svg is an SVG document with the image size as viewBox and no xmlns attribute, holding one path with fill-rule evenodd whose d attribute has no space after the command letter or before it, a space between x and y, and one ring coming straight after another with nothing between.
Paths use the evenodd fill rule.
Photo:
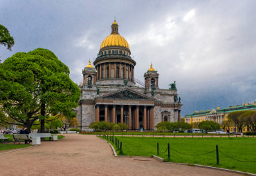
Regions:
<instances>
[{"instance_id":1,"label":"cathedral's front portico, brown columns together with triangular pediment","mask_svg":"<svg viewBox=\"0 0 256 176\"><path fill-rule=\"evenodd\" d=\"M95 121L125 123L129 129L154 129L154 99L124 90L95 98Z\"/></svg>"}]
</instances>

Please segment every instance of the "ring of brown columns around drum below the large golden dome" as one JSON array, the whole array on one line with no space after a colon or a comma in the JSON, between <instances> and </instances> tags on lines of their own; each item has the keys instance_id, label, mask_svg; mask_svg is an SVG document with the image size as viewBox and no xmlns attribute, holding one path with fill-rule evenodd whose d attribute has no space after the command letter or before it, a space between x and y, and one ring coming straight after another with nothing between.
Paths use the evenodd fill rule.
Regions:
<instances>
[{"instance_id":1,"label":"ring of brown columns around drum below the large golden dome","mask_svg":"<svg viewBox=\"0 0 256 176\"><path fill-rule=\"evenodd\" d=\"M97 70L97 78L108 79L108 78L123 78L134 80L134 66L128 63L100 63L95 66Z\"/></svg>"}]
</instances>

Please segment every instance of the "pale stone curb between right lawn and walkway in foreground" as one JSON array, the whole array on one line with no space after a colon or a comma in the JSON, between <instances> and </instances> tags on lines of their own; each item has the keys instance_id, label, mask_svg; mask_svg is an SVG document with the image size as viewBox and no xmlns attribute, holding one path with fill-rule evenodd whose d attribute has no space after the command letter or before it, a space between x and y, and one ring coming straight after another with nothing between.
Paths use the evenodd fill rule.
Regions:
<instances>
[{"instance_id":1,"label":"pale stone curb between right lawn and walkway in foreground","mask_svg":"<svg viewBox=\"0 0 256 176\"><path fill-rule=\"evenodd\" d=\"M153 157L158 160L159 162L163 162L164 159L161 157L157 157L155 155L153 155ZM171 164L180 164L180 165L186 165L186 166L196 166L196 167L200 167L200 168L210 168L210 169L214 169L214 170L223 170L223 171L227 171L230 173L239 173L239 174L243 174L243 175L251 175L251 176L256 176L256 174L253 173L246 173L243 171L238 171L238 170L230 170L227 168L217 168L217 167L212 167L212 166L204 166L204 165L200 165L200 164L187 164L187 163L174 163L174 162L166 162L166 163L171 163Z\"/></svg>"}]
</instances>

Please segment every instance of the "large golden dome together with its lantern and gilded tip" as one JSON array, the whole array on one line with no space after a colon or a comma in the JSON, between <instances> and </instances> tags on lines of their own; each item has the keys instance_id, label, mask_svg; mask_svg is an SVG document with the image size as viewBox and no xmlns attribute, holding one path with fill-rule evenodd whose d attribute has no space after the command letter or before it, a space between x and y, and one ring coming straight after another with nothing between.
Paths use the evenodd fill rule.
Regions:
<instances>
[{"instance_id":1,"label":"large golden dome together with its lantern and gilded tip","mask_svg":"<svg viewBox=\"0 0 256 176\"><path fill-rule=\"evenodd\" d=\"M109 35L102 41L100 45L100 49L106 46L123 46L125 48L130 49L126 39L118 34L118 23L116 23L116 19L115 21L113 21L111 27L112 27L111 35Z\"/></svg>"}]
</instances>

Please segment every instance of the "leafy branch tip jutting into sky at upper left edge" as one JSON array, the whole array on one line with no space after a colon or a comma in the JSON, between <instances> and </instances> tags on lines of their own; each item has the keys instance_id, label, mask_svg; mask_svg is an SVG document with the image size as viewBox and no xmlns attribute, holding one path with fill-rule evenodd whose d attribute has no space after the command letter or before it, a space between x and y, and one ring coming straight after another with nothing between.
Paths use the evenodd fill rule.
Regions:
<instances>
[{"instance_id":1,"label":"leafy branch tip jutting into sky at upper left edge","mask_svg":"<svg viewBox=\"0 0 256 176\"><path fill-rule=\"evenodd\" d=\"M8 50L12 50L15 40L10 36L9 30L0 24L0 44L7 46Z\"/></svg>"}]
</instances>

